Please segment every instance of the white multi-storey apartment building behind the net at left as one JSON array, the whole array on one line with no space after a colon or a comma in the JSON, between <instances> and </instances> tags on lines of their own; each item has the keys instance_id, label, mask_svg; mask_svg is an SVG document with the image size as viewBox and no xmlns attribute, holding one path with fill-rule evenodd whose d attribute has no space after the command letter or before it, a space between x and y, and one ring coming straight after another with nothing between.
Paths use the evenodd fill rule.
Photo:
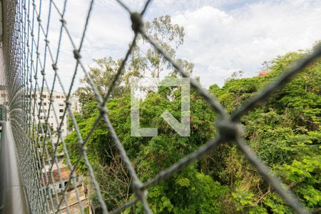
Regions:
<instances>
[{"instance_id":1,"label":"white multi-storey apartment building behind the net at left","mask_svg":"<svg viewBox=\"0 0 321 214\"><path fill-rule=\"evenodd\" d=\"M66 111L66 97L62 92L54 91L52 95L52 105L50 106L50 94L51 90L48 90L48 88L44 88L41 94L41 91L36 91L36 94L32 95L32 98L35 98L36 96L36 108L35 108L35 115L39 116L39 118L36 120L37 123L40 121L40 123L45 123L46 118L48 118L49 126L54 131L55 135L57 135L58 127L61 125L61 136L65 137L68 135L68 116L69 113ZM42 103L41 104L41 98ZM80 105L78 103L78 100L74 97L69 98L69 101L71 102L71 111L72 112L79 112L80 111Z\"/></svg>"}]
</instances>

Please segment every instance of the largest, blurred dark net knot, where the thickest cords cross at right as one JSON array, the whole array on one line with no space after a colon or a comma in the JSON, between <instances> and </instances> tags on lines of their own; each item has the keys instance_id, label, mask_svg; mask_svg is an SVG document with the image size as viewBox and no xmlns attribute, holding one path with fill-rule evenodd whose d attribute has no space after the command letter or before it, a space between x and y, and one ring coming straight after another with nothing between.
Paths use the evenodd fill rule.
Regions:
<instances>
[{"instance_id":1,"label":"largest, blurred dark net knot, where the thickest cords cross at right","mask_svg":"<svg viewBox=\"0 0 321 214\"><path fill-rule=\"evenodd\" d=\"M218 121L216 126L218 127L220 137L223 138L224 141L233 141L242 134L238 123L229 120Z\"/></svg>"}]
</instances>

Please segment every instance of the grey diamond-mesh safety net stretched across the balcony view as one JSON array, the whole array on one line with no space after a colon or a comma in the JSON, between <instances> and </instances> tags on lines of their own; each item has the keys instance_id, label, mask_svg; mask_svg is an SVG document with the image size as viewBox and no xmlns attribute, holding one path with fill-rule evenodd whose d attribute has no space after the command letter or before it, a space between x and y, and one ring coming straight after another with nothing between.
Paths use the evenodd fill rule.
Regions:
<instances>
[{"instance_id":1,"label":"grey diamond-mesh safety net stretched across the balcony view","mask_svg":"<svg viewBox=\"0 0 321 214\"><path fill-rule=\"evenodd\" d=\"M4 91L7 93L6 107L8 109L8 117L14 132L16 148L19 153L19 163L21 176L24 180L27 198L32 213L74 213L74 208L84 213L83 196L80 193L78 186L78 178L76 170L81 159L88 168L91 185L96 192L98 203L100 204L103 213L121 213L126 208L141 202L145 213L151 213L151 208L147 201L147 190L152 185L156 185L161 180L170 177L185 166L193 163L193 161L201 158L210 150L218 146L219 143L229 142L235 143L239 150L244 154L248 161L258 170L267 183L270 183L272 188L279 193L285 202L296 213L307 213L307 210L302 206L299 200L290 193L289 190L283 188L281 181L270 173L270 170L253 153L240 136L239 121L240 118L253 109L258 103L267 99L274 91L284 86L290 81L291 77L302 71L308 63L320 56L321 50L317 49L312 54L302 59L293 68L285 71L276 81L267 86L260 94L254 96L250 101L238 108L234 113L228 115L225 108L204 88L200 86L198 81L191 79L190 86L197 91L200 96L210 105L213 112L218 114L218 136L205 143L204 146L198 148L197 151L190 153L185 158L182 158L177 163L169 168L159 172L154 178L151 178L146 183L142 183L136 174L130 159L126 155L126 150L123 148L118 135L108 118L108 109L106 102L111 96L116 82L121 78L126 61L136 44L138 35L143 36L159 54L161 54L183 77L188 77L188 73L183 71L183 68L175 62L175 60L159 46L151 36L149 36L143 25L143 15L148 10L151 1L146 1L141 12L131 11L122 1L117 1L131 17L133 40L129 46L120 68L114 76L113 82L108 88L106 94L98 93L97 87L91 76L88 75L88 69L84 66L81 59L81 50L83 41L88 29L89 20L91 17L93 2L88 4L86 13L86 21L84 22L83 30L81 31L81 39L76 43L68 30L66 24L66 4L64 0L62 7L56 4L56 1L49 1L49 8L46 17L41 13L43 6L42 1L3 1L4 11L4 46L3 58L5 61L4 75L1 75L1 81L4 83ZM49 29L51 20L59 19L58 40L49 41ZM45 20L45 21L43 21ZM63 51L62 37L66 36L68 44L73 48L74 68L73 76L69 87L63 85L61 73L59 70L59 58ZM56 50L56 51L54 51ZM71 63L71 62L70 62ZM72 88L75 83L77 72L83 72L88 78L88 83L93 90L93 93L98 102L98 110L100 114L96 118L96 122L91 127L86 138L81 136L81 133L76 122L76 118L72 106ZM58 114L58 109L54 105L56 96L54 88L58 86L63 93L63 112ZM49 103L44 102L45 94L49 94ZM52 130L52 124L49 124L49 118L54 118L56 132ZM79 158L75 164L71 164L68 155L66 143L63 139L63 123L67 122L67 118L71 118L71 123L78 137ZM121 205L116 210L108 210L106 203L103 200L101 190L95 177L91 163L88 161L86 143L91 137L93 131L98 126L98 123L103 121L106 123L108 131L111 133L113 142L115 143L121 160L126 165L129 175L132 179L132 190L135 198L128 203ZM58 146L62 146L62 154L58 153ZM58 156L63 156L66 160L66 168L68 169L67 180L66 171L61 169ZM65 181L66 180L66 181ZM56 188L52 186L59 185L61 192L58 194ZM74 200L68 200L68 190L73 190Z\"/></svg>"}]
</instances>

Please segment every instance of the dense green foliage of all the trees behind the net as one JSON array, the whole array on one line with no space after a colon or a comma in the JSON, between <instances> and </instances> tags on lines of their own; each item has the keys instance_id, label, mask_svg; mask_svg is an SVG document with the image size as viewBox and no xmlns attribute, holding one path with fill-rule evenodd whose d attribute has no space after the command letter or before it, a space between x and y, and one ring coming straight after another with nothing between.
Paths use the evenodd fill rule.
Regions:
<instances>
[{"instance_id":1,"label":"dense green foliage of all the trees behind the net","mask_svg":"<svg viewBox=\"0 0 321 214\"><path fill-rule=\"evenodd\" d=\"M170 36L170 41L158 41L175 56L175 46L183 43L183 29L170 24L165 16L149 23L149 33L155 39ZM148 25L147 25L148 26ZM167 29L168 31L161 31ZM153 32L155 34L153 34ZM163 42L163 43L162 43ZM152 76L158 77L168 64L155 50L149 49L142 56L138 48L126 68L125 76L145 75L145 69L152 69ZM309 51L298 51L278 56L265 63L269 70L266 76L252 78L229 78L223 87L210 86L209 91L232 113L242 103L274 81L285 69L295 65L297 60ZM101 71L94 69L96 83L108 84L118 63L110 59L97 61ZM193 65L180 61L185 68L193 71ZM169 67L168 67L169 68ZM96 74L95 74L96 72ZM110 72L110 73L108 73ZM105 74L104 74L105 73ZM175 75L175 70L171 75ZM101 78L105 76L106 81ZM159 171L168 168L189 153L203 146L216 136L216 116L208 104L190 93L190 137L180 137L168 126L161 113L168 110L180 118L180 89L158 88L141 100L141 126L157 127L158 136L150 138L131 137L131 99L126 90L128 78L118 85L113 98L106 104L118 137L131 159L142 182L153 178ZM100 87L101 93L106 88ZM87 90L88 89L88 90ZM83 97L82 112L76 121L83 138L99 115L90 89L82 88L78 95ZM243 138L255 153L269 166L270 170L282 178L287 188L313 213L320 213L320 143L321 143L321 60L307 66L303 73L292 78L280 91L241 118L244 126ZM66 137L71 162L78 159L78 140L76 132ZM109 210L126 203L135 197L131 190L131 178L121 162L106 123L100 121L86 142L88 160L93 165L103 198ZM86 165L81 159L78 173L88 175ZM92 204L98 206L92 191ZM233 145L223 143L206 156L179 173L162 180L148 189L148 203L154 213L291 213L290 208L275 193L270 185L243 157ZM138 203L125 213L143 213Z\"/></svg>"}]
</instances>

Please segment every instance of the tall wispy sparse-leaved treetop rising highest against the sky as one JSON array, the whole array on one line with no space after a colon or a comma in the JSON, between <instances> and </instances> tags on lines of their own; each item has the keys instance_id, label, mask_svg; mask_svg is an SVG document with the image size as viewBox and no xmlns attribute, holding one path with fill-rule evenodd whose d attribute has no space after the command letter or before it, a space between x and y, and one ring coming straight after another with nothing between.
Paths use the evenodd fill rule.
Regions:
<instances>
[{"instance_id":1,"label":"tall wispy sparse-leaved treetop rising highest against the sky","mask_svg":"<svg viewBox=\"0 0 321 214\"><path fill-rule=\"evenodd\" d=\"M147 21L145 30L159 46L162 47L172 58L175 58L175 52L184 41L184 29L178 24L172 24L170 16L161 16ZM160 78L164 71L175 73L171 64L158 51L146 41L143 36L138 35L137 46L131 54L131 62L128 63L129 76L151 76ZM188 61L178 59L181 66L188 68L188 72L192 73L193 64Z\"/></svg>"}]
</instances>

